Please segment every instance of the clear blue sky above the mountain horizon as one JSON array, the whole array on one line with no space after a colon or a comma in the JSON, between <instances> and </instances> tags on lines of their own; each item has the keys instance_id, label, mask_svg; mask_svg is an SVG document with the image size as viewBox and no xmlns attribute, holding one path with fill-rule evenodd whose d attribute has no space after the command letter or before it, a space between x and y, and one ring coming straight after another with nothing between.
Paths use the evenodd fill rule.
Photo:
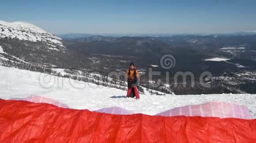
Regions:
<instances>
[{"instance_id":1,"label":"clear blue sky above the mountain horizon","mask_svg":"<svg viewBox=\"0 0 256 143\"><path fill-rule=\"evenodd\" d=\"M256 31L256 0L4 0L0 20L55 34Z\"/></svg>"}]
</instances>

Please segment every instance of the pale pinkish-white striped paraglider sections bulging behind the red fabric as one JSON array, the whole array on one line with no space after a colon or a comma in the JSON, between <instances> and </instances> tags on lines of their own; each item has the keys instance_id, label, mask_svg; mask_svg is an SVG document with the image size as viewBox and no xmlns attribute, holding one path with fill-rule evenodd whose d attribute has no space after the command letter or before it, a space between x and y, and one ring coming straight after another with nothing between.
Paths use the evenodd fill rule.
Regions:
<instances>
[{"instance_id":1,"label":"pale pinkish-white striped paraglider sections bulging behind the red fabric","mask_svg":"<svg viewBox=\"0 0 256 143\"><path fill-rule=\"evenodd\" d=\"M15 98L13 100L26 100L34 103L47 103L53 104L62 108L69 108L68 105L59 101L41 97L41 96L29 96L26 98ZM136 111L123 109L121 107L107 107L96 110L100 113L108 114L135 114ZM228 103L228 102L207 102L198 105L187 105L183 107L176 107L168 111L164 111L156 116L201 116L201 117L218 117L218 118L241 118L241 119L253 119L248 108L246 106Z\"/></svg>"}]
</instances>

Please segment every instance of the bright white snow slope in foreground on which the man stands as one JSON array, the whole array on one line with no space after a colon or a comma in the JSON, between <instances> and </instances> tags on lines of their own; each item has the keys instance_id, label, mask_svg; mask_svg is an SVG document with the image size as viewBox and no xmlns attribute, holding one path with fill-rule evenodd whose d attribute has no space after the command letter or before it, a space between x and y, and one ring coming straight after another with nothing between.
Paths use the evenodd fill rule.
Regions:
<instances>
[{"instance_id":1,"label":"bright white snow slope in foreground on which the man stands","mask_svg":"<svg viewBox=\"0 0 256 143\"><path fill-rule=\"evenodd\" d=\"M79 82L0 66L0 98L23 98L40 95L67 104L75 109L91 111L104 107L122 107L136 113L157 114L174 107L189 104L202 104L209 101L232 102L248 107L256 118L255 94L212 94L212 95L140 95L140 100L126 98L126 91L98 86L88 82ZM42 82L45 80L45 82ZM49 82L50 81L50 82Z\"/></svg>"}]
</instances>

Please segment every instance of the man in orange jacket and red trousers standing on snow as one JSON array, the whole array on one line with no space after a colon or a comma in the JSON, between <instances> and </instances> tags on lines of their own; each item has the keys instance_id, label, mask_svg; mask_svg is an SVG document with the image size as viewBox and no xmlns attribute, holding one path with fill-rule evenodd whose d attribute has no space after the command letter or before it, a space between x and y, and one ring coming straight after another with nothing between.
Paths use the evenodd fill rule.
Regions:
<instances>
[{"instance_id":1,"label":"man in orange jacket and red trousers standing on snow","mask_svg":"<svg viewBox=\"0 0 256 143\"><path fill-rule=\"evenodd\" d=\"M139 99L139 90L137 88L137 78L139 78L139 72L133 63L130 64L130 68L126 71L126 77L128 78L127 97L130 97L130 93L134 89L136 99Z\"/></svg>"}]
</instances>

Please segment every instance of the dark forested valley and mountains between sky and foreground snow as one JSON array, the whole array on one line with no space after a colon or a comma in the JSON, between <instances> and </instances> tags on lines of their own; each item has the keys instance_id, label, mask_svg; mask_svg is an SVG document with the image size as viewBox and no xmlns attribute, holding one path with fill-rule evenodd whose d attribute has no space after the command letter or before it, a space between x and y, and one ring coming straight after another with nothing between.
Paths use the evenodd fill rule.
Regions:
<instances>
[{"instance_id":1,"label":"dark forested valley and mountains between sky and foreground snow","mask_svg":"<svg viewBox=\"0 0 256 143\"><path fill-rule=\"evenodd\" d=\"M86 35L88 37L84 38L84 35L79 35L79 38L61 39L26 22L0 21L0 29L4 30L0 38L2 66L93 82L75 77L79 75L61 75L52 70L60 68L69 73L80 71L89 75L96 72L108 79L109 73L125 72L130 63L135 63L141 74L140 85L154 90L154 94L256 93L256 52L253 52L256 51L255 35ZM162 68L161 57L166 54L174 57L175 67ZM150 69L161 74L149 79ZM169 72L168 79L166 72ZM186 86L182 77L178 77L177 84L174 83L176 79L173 77L177 72L191 72L195 77L195 86L191 87L192 77L186 78ZM207 79L210 88L200 84L199 77L203 72L212 74L212 78ZM116 78L111 77L113 81L124 83L114 87L126 90L125 78ZM155 86L158 79L161 82ZM203 81L206 82L206 79Z\"/></svg>"}]
</instances>

